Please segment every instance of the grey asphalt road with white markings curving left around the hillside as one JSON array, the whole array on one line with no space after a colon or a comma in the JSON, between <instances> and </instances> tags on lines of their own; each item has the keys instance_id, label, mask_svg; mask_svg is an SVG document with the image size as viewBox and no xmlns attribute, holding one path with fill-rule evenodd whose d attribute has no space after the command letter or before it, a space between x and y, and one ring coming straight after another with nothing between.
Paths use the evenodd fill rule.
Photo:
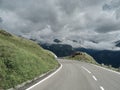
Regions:
<instances>
[{"instance_id":1,"label":"grey asphalt road with white markings curving left around the hillside","mask_svg":"<svg viewBox=\"0 0 120 90\"><path fill-rule=\"evenodd\" d=\"M92 64L59 60L62 68L27 90L120 90L120 74Z\"/></svg>"}]
</instances>

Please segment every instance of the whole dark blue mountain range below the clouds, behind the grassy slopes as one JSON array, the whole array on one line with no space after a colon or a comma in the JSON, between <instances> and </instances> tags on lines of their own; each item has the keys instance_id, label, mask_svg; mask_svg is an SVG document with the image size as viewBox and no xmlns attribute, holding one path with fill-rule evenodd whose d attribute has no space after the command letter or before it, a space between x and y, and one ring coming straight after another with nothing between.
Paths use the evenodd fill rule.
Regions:
<instances>
[{"instance_id":1,"label":"whole dark blue mountain range below the clouds, behind the grassy slopes","mask_svg":"<svg viewBox=\"0 0 120 90\"><path fill-rule=\"evenodd\" d=\"M66 44L41 44L41 46L53 51L58 57L70 56L76 51L81 51L91 55L100 64L112 65L115 68L120 67L120 51L73 48Z\"/></svg>"}]
</instances>

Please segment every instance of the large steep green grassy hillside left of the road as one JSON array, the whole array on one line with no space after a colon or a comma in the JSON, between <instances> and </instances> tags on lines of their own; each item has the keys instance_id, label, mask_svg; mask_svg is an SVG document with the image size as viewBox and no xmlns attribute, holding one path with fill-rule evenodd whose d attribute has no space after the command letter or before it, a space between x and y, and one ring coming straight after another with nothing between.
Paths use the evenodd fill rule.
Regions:
<instances>
[{"instance_id":1,"label":"large steep green grassy hillside left of the road","mask_svg":"<svg viewBox=\"0 0 120 90\"><path fill-rule=\"evenodd\" d=\"M0 89L14 87L57 66L54 56L33 41L0 30Z\"/></svg>"}]
</instances>

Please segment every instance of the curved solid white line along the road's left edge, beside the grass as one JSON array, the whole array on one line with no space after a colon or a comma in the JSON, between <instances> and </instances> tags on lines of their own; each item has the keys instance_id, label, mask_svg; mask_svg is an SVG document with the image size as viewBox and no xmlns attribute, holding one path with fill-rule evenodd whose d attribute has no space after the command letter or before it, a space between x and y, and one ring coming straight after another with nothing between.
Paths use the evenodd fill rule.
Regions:
<instances>
[{"instance_id":1,"label":"curved solid white line along the road's left edge, beside the grass","mask_svg":"<svg viewBox=\"0 0 120 90\"><path fill-rule=\"evenodd\" d=\"M47 79L49 79L50 77L55 75L58 71L60 71L62 69L62 67L63 67L63 65L61 64L60 67L55 72L53 72L52 74L50 74L48 77L44 78L43 80L39 81L38 83L34 84L33 86L27 88L26 90L30 90L30 89L34 88L35 86L37 86L38 84L46 81Z\"/></svg>"}]
</instances>

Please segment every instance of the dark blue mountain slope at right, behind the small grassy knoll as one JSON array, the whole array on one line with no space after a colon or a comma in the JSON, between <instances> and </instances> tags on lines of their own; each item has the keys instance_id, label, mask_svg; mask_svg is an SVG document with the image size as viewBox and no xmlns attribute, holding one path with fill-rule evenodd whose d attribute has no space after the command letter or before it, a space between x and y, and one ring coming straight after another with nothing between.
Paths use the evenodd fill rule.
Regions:
<instances>
[{"instance_id":1,"label":"dark blue mountain slope at right, behind the small grassy knoll","mask_svg":"<svg viewBox=\"0 0 120 90\"><path fill-rule=\"evenodd\" d=\"M90 54L98 63L120 67L120 51L94 50L85 48L75 48L75 51L82 51Z\"/></svg>"}]
</instances>

